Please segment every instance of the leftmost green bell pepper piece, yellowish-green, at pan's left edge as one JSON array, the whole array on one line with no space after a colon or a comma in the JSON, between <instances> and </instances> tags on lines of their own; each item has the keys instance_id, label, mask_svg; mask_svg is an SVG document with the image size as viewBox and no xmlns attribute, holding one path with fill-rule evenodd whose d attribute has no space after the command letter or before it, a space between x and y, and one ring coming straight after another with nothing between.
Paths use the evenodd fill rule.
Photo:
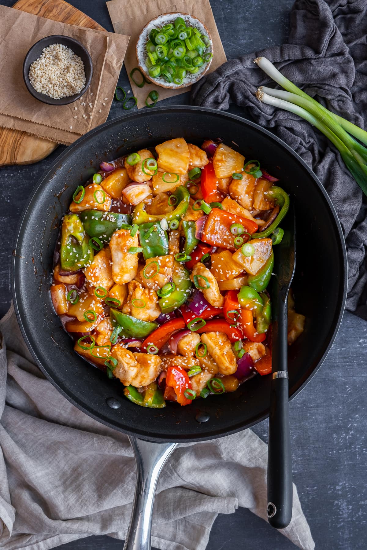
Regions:
<instances>
[{"instance_id":1,"label":"leftmost green bell pepper piece, yellowish-green, at pan's left edge","mask_svg":"<svg viewBox=\"0 0 367 550\"><path fill-rule=\"evenodd\" d=\"M76 214L64 216L61 225L60 263L63 271L78 271L91 263L94 252L83 223Z\"/></svg>"}]
</instances>

